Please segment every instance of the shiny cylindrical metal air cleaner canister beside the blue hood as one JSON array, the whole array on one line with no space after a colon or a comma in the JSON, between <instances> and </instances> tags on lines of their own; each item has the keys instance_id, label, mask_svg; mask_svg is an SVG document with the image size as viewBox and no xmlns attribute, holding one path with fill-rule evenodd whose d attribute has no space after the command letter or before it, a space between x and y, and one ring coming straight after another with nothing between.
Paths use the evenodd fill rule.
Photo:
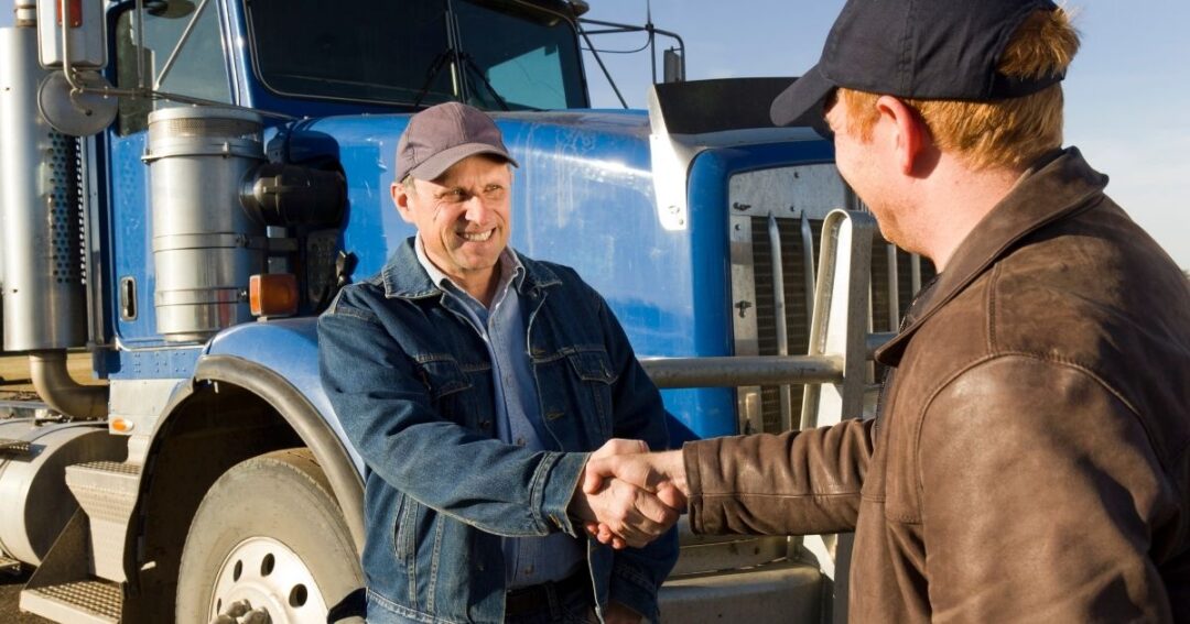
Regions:
<instances>
[{"instance_id":1,"label":"shiny cylindrical metal air cleaner canister beside the blue hood","mask_svg":"<svg viewBox=\"0 0 1190 624\"><path fill-rule=\"evenodd\" d=\"M249 276L263 272L264 225L240 207L248 172L264 160L261 118L215 107L149 115L157 332L203 341L251 320Z\"/></svg>"}]
</instances>

